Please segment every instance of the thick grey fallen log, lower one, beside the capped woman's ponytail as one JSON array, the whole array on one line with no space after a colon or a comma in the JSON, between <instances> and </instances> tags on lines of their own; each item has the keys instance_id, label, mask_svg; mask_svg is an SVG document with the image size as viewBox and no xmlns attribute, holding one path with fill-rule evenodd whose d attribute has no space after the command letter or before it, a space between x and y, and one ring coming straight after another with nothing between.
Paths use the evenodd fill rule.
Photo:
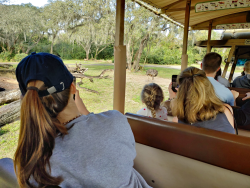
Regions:
<instances>
[{"instance_id":1,"label":"thick grey fallen log, lower one, beside the capped woman's ponytail","mask_svg":"<svg viewBox=\"0 0 250 188\"><path fill-rule=\"evenodd\" d=\"M0 127L20 117L21 100L14 101L0 108Z\"/></svg>"}]
</instances>

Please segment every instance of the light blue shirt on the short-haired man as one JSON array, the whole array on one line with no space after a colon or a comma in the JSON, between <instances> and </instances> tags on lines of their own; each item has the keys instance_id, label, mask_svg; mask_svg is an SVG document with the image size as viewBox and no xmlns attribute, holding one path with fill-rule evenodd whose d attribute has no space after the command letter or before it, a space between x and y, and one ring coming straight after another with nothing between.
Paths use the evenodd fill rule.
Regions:
<instances>
[{"instance_id":1,"label":"light blue shirt on the short-haired man","mask_svg":"<svg viewBox=\"0 0 250 188\"><path fill-rule=\"evenodd\" d=\"M214 91L217 97L231 106L234 106L234 96L232 92L224 85L216 81L213 77L207 77L211 84L214 86Z\"/></svg>"}]
</instances>

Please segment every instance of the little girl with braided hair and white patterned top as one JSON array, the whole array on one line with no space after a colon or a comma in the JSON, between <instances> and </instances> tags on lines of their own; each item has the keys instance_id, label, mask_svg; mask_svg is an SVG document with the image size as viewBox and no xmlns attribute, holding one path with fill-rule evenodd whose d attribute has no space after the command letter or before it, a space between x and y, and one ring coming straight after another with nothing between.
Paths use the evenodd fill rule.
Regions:
<instances>
[{"instance_id":1,"label":"little girl with braided hair and white patterned top","mask_svg":"<svg viewBox=\"0 0 250 188\"><path fill-rule=\"evenodd\" d=\"M168 120L167 109L161 106L164 99L164 94L161 87L155 83L147 84L141 92L141 101L146 107L140 109L137 114Z\"/></svg>"}]
</instances>

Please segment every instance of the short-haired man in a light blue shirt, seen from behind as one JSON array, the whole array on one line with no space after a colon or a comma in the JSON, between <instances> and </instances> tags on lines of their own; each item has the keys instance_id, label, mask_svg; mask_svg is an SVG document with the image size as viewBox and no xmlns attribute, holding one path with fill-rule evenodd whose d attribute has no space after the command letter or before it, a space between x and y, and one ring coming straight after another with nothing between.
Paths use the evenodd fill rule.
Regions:
<instances>
[{"instance_id":1,"label":"short-haired man in a light blue shirt, seen from behind","mask_svg":"<svg viewBox=\"0 0 250 188\"><path fill-rule=\"evenodd\" d=\"M235 98L239 93L234 90L229 90L224 85L214 79L216 72L220 70L222 58L219 54L211 52L205 55L201 63L201 69L206 73L207 78L214 87L217 97L231 106L235 105Z\"/></svg>"}]
</instances>

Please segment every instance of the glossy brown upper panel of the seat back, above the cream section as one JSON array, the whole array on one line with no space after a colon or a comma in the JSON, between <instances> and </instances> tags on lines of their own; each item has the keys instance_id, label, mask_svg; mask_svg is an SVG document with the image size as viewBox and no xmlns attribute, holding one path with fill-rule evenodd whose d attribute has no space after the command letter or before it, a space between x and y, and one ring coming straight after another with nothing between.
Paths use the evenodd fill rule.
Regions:
<instances>
[{"instance_id":1,"label":"glossy brown upper panel of the seat back, above the cream section","mask_svg":"<svg viewBox=\"0 0 250 188\"><path fill-rule=\"evenodd\" d=\"M250 138L126 113L135 141L250 176Z\"/></svg>"}]
</instances>

